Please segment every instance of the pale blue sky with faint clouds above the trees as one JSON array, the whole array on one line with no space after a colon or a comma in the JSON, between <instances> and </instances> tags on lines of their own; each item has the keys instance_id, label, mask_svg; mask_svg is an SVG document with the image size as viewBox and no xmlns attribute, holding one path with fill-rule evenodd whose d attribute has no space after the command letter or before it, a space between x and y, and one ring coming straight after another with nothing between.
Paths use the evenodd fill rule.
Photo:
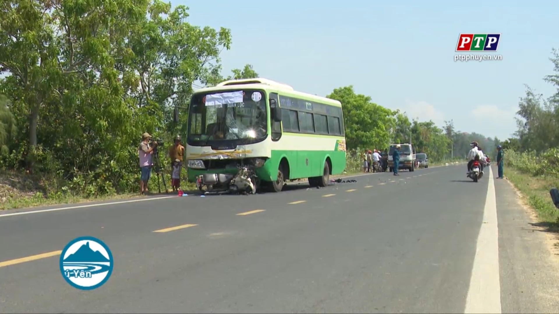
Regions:
<instances>
[{"instance_id":1,"label":"pale blue sky with faint clouds above the trees","mask_svg":"<svg viewBox=\"0 0 559 314\"><path fill-rule=\"evenodd\" d=\"M231 28L224 72L250 63L298 91L353 85L410 118L506 139L524 85L551 96L553 1L171 0L193 25ZM501 33L499 61L454 61L460 33Z\"/></svg>"}]
</instances>

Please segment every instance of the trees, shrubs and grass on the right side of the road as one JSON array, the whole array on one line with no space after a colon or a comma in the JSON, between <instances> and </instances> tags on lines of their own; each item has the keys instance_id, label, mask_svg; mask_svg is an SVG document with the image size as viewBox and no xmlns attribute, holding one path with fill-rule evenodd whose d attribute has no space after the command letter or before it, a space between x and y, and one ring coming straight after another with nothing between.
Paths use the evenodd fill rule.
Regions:
<instances>
[{"instance_id":1,"label":"trees, shrubs and grass on the right side of the road","mask_svg":"<svg viewBox=\"0 0 559 314\"><path fill-rule=\"evenodd\" d=\"M527 86L520 98L518 131L502 143L505 177L536 210L542 225L559 231L559 211L549 189L559 187L559 51L553 50L553 74L544 77L557 88L548 98Z\"/></svg>"}]
</instances>

